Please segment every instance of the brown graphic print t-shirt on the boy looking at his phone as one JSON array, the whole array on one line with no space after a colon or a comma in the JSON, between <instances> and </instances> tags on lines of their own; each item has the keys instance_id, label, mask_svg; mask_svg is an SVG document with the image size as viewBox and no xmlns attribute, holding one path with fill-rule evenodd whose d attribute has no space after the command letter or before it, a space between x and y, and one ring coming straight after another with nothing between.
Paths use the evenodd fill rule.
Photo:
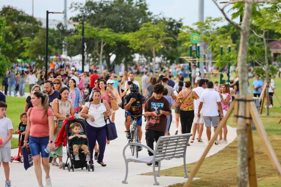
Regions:
<instances>
[{"instance_id":1,"label":"brown graphic print t-shirt on the boy looking at his phone","mask_svg":"<svg viewBox=\"0 0 281 187\"><path fill-rule=\"evenodd\" d=\"M156 99L154 96L150 97L145 104L145 112L160 112L160 110L171 112L169 101L162 96ZM160 117L149 116L146 122L145 130L151 129L155 131L165 132L167 126L167 117L162 114Z\"/></svg>"}]
</instances>

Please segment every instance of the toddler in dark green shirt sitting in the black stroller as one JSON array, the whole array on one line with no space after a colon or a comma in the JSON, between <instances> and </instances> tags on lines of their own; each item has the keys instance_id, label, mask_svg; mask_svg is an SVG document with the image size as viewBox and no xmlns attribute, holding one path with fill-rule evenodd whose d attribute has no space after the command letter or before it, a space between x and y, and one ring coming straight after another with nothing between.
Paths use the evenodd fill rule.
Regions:
<instances>
[{"instance_id":1,"label":"toddler in dark green shirt sitting in the black stroller","mask_svg":"<svg viewBox=\"0 0 281 187\"><path fill-rule=\"evenodd\" d=\"M71 140L72 138L77 136L76 139L71 141L71 145L73 145L73 154L75 155L75 160L80 160L78 151L79 151L79 148L81 148L81 149L83 149L84 154L86 156L86 161L90 161L90 153L89 153L88 146L83 143L82 139L80 139L80 138L87 138L87 136L85 134L80 132L81 125L79 123L73 123L71 130L73 131L73 133L71 134L71 136L68 137L68 139Z\"/></svg>"}]
</instances>

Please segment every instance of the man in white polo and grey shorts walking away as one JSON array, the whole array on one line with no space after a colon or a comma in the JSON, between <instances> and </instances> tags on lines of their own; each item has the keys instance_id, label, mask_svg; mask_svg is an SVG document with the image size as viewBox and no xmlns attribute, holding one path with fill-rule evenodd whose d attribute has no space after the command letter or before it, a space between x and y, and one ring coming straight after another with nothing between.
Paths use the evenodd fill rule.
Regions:
<instances>
[{"instance_id":1,"label":"man in white polo and grey shorts walking away","mask_svg":"<svg viewBox=\"0 0 281 187\"><path fill-rule=\"evenodd\" d=\"M205 126L207 127L207 138L208 143L210 143L211 140L211 126L213 125L214 131L217 129L217 126L219 125L219 112L217 111L217 107L220 110L221 116L223 117L222 112L222 104L220 99L220 94L214 90L214 83L212 81L209 81L207 83L207 89L202 92L200 97L200 104L198 107L198 118L201 117L201 109L204 104L204 121ZM218 145L219 142L216 138L215 144Z\"/></svg>"}]
</instances>

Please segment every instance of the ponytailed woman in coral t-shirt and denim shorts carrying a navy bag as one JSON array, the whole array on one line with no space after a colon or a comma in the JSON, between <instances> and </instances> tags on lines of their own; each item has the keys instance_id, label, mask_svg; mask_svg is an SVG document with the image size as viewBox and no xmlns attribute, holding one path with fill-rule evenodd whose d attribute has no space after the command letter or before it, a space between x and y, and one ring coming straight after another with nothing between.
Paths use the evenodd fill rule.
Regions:
<instances>
[{"instance_id":1,"label":"ponytailed woman in coral t-shirt and denim shorts carrying a navy bag","mask_svg":"<svg viewBox=\"0 0 281 187\"><path fill-rule=\"evenodd\" d=\"M53 136L54 136L54 112L49 107L49 98L47 94L41 91L35 91L31 95L32 108L27 112L27 126L25 131L24 145L27 146L29 136L29 146L33 158L35 174L39 186L42 184L42 169L41 159L44 171L46 173L46 187L52 187L49 165L49 153L44 149L48 148L49 151L54 149Z\"/></svg>"}]
</instances>

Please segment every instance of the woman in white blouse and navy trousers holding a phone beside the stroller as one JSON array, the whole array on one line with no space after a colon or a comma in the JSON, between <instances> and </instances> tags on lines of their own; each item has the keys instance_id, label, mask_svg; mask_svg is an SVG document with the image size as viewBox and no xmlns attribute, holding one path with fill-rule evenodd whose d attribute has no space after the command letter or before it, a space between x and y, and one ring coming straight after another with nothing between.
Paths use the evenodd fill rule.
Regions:
<instances>
[{"instance_id":1,"label":"woman in white blouse and navy trousers holding a phone beside the stroller","mask_svg":"<svg viewBox=\"0 0 281 187\"><path fill-rule=\"evenodd\" d=\"M109 104L105 100L100 99L99 90L94 89L92 92L92 98L90 98L90 101L83 107L80 115L81 117L86 118L86 132L92 162L93 151L97 141L99 144L97 163L106 166L103 162L106 145L106 123L104 119L107 119L111 115L111 110Z\"/></svg>"}]
</instances>

